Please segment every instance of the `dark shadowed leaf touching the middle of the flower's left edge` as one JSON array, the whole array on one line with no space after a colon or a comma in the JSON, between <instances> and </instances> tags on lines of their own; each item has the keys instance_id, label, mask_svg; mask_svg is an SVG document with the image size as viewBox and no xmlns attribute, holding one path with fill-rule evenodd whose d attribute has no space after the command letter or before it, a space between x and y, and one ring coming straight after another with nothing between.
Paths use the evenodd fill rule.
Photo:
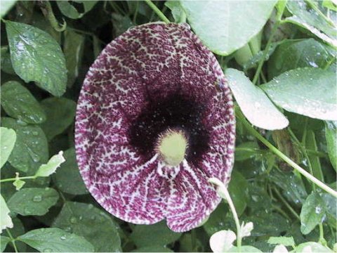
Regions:
<instances>
[{"instance_id":1,"label":"dark shadowed leaf touching the middle of the flower's left edge","mask_svg":"<svg viewBox=\"0 0 337 253\"><path fill-rule=\"evenodd\" d=\"M62 134L74 121L76 112L76 103L67 98L46 98L41 101L47 120L41 124L48 141L58 134Z\"/></svg>"}]
</instances>

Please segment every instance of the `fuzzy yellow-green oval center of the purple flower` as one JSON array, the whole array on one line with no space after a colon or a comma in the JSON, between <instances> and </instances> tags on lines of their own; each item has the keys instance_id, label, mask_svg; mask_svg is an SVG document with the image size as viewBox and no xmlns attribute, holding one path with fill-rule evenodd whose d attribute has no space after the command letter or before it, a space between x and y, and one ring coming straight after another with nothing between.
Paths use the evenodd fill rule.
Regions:
<instances>
[{"instance_id":1,"label":"fuzzy yellow-green oval center of the purple flower","mask_svg":"<svg viewBox=\"0 0 337 253\"><path fill-rule=\"evenodd\" d=\"M169 129L159 136L156 150L166 164L177 166L183 162L187 146L187 139L182 130Z\"/></svg>"}]
</instances>

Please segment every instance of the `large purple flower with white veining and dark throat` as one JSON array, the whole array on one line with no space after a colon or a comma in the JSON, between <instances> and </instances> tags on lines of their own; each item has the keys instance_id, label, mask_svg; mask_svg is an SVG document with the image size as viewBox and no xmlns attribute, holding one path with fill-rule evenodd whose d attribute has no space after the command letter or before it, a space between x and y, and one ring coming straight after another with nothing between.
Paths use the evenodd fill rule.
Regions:
<instances>
[{"instance_id":1,"label":"large purple flower with white veining and dark throat","mask_svg":"<svg viewBox=\"0 0 337 253\"><path fill-rule=\"evenodd\" d=\"M232 96L216 58L186 24L133 27L91 66L75 144L91 195L119 219L198 226L220 202L234 155Z\"/></svg>"}]
</instances>

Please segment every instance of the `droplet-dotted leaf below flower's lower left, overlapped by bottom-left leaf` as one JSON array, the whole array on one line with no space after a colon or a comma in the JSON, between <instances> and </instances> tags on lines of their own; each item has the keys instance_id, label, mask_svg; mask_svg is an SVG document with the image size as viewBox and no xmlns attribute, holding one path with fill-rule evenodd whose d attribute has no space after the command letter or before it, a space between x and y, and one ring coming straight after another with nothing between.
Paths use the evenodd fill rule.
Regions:
<instances>
[{"instance_id":1,"label":"droplet-dotted leaf below flower's lower left, overlapped by bottom-left leaf","mask_svg":"<svg viewBox=\"0 0 337 253\"><path fill-rule=\"evenodd\" d=\"M92 204L65 202L53 227L83 236L95 247L95 252L121 251L118 226L110 215Z\"/></svg>"}]
</instances>

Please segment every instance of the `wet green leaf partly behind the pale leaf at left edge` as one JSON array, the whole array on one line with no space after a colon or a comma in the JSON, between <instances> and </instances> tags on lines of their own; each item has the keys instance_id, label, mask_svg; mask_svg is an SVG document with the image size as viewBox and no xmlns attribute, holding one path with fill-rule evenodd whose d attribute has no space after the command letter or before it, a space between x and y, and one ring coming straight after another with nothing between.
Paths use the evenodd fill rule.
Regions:
<instances>
[{"instance_id":1,"label":"wet green leaf partly behind the pale leaf at left edge","mask_svg":"<svg viewBox=\"0 0 337 253\"><path fill-rule=\"evenodd\" d=\"M1 118L1 124L16 132L16 142L8 161L13 167L32 172L48 161L48 143L44 131L37 125L27 125L8 117Z\"/></svg>"}]
</instances>

